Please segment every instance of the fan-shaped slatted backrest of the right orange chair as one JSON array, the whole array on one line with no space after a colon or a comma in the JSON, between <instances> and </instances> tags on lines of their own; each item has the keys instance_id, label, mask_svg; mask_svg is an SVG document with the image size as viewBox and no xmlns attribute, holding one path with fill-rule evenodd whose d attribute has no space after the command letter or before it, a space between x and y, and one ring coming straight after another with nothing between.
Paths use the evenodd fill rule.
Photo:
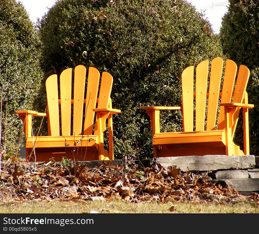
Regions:
<instances>
[{"instance_id":1,"label":"fan-shaped slatted backrest of the right orange chair","mask_svg":"<svg viewBox=\"0 0 259 234\"><path fill-rule=\"evenodd\" d=\"M228 59L225 65L222 92L220 93L223 60L220 57L214 58L211 62L209 92L207 93L208 65L208 60L202 61L197 65L195 90L193 90L194 67L189 66L182 72L182 124L183 131L185 132L193 131L194 108L195 131L203 131L205 125L207 131L215 130L216 126L218 130L223 130L225 129L225 111L223 106L219 108L219 101L220 103L244 102L245 90L250 76L249 69L244 65L240 65L237 75L236 63ZM195 107L193 105L194 97ZM232 127L232 138L234 137L240 109L231 108L229 110L229 125Z\"/></svg>"}]
</instances>

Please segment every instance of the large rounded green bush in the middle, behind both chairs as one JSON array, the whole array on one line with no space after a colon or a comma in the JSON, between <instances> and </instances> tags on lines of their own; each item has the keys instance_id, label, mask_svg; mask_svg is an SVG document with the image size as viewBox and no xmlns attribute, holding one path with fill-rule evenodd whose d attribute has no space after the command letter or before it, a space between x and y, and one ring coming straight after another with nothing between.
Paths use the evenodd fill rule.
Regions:
<instances>
[{"instance_id":1,"label":"large rounded green bush in the middle, behind both chairs","mask_svg":"<svg viewBox=\"0 0 259 234\"><path fill-rule=\"evenodd\" d=\"M116 158L152 157L152 130L140 106L181 105L181 72L221 57L202 13L182 0L62 0L39 22L47 75L82 64L114 78ZM180 130L179 112L161 114L161 130Z\"/></svg>"}]
</instances>

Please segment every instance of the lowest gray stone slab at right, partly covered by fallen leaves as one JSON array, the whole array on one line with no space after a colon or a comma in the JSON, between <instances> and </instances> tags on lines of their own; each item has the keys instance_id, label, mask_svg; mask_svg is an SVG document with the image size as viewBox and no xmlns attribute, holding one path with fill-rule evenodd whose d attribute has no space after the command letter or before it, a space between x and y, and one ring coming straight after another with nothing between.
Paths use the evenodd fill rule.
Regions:
<instances>
[{"instance_id":1,"label":"lowest gray stone slab at right, partly covered by fallen leaves","mask_svg":"<svg viewBox=\"0 0 259 234\"><path fill-rule=\"evenodd\" d=\"M223 187L227 184L228 187L231 186L236 191L259 191L259 179L212 179L210 182L219 183Z\"/></svg>"}]
</instances>

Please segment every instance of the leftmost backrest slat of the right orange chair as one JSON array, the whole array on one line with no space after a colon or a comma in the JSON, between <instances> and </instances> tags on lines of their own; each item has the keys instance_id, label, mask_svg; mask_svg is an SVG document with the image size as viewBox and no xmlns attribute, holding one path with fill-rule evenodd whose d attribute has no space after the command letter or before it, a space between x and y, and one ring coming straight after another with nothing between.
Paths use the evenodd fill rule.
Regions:
<instances>
[{"instance_id":1,"label":"leftmost backrest slat of the right orange chair","mask_svg":"<svg viewBox=\"0 0 259 234\"><path fill-rule=\"evenodd\" d=\"M193 66L182 72L182 128L185 132L193 131L193 72Z\"/></svg>"}]
</instances>

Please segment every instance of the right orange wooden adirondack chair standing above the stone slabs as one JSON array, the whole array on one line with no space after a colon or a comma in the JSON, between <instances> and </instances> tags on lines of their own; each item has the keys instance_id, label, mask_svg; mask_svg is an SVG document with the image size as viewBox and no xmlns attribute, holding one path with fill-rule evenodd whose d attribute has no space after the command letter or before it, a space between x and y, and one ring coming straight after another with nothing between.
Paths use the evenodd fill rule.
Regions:
<instances>
[{"instance_id":1,"label":"right orange wooden adirondack chair standing above the stone slabs","mask_svg":"<svg viewBox=\"0 0 259 234\"><path fill-rule=\"evenodd\" d=\"M195 91L194 67L189 66L182 72L182 106L140 107L147 111L151 120L154 157L249 154L248 109L253 108L253 104L248 104L246 86L250 71L244 65L240 65L236 79L237 65L232 60L227 60L223 88L220 92L223 60L216 57L211 62L207 92L208 67L208 60L197 65ZM217 115L219 103L220 111ZM241 108L244 150L233 142ZM160 133L161 110L181 110L183 131Z\"/></svg>"}]
</instances>

